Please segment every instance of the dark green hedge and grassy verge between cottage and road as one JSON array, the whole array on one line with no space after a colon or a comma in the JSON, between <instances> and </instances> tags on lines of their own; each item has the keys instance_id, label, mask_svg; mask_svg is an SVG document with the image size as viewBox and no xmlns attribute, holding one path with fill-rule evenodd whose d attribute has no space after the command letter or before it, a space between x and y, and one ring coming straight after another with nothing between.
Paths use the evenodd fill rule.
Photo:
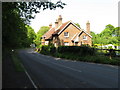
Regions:
<instances>
[{"instance_id":1,"label":"dark green hedge and grassy verge between cottage and road","mask_svg":"<svg viewBox=\"0 0 120 90\"><path fill-rule=\"evenodd\" d=\"M57 49L54 46L42 46L40 53L69 60L120 65L120 60L99 55L96 49L88 46L60 46Z\"/></svg>"}]
</instances>

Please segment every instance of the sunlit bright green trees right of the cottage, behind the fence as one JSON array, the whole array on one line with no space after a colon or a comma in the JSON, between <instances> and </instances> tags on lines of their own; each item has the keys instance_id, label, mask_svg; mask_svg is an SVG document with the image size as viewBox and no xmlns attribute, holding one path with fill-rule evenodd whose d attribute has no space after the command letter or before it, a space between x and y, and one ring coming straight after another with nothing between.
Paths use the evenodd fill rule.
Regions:
<instances>
[{"instance_id":1,"label":"sunlit bright green trees right of the cottage, behind the fence","mask_svg":"<svg viewBox=\"0 0 120 90\"><path fill-rule=\"evenodd\" d=\"M115 44L118 45L120 38L120 28L114 27L111 24L106 25L105 29L100 34L91 32L93 44Z\"/></svg>"}]
</instances>

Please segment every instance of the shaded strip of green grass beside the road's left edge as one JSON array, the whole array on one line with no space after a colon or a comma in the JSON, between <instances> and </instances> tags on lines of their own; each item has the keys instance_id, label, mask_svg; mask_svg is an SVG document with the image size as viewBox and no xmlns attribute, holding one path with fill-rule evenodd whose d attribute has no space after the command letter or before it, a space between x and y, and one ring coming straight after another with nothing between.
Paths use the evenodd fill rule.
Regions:
<instances>
[{"instance_id":1,"label":"shaded strip of green grass beside the road's left edge","mask_svg":"<svg viewBox=\"0 0 120 90\"><path fill-rule=\"evenodd\" d=\"M24 72L24 68L22 67L21 62L20 62L19 58L17 57L16 52L12 53L11 57L12 57L12 61L13 61L14 66L15 66L15 70L18 72Z\"/></svg>"}]
</instances>

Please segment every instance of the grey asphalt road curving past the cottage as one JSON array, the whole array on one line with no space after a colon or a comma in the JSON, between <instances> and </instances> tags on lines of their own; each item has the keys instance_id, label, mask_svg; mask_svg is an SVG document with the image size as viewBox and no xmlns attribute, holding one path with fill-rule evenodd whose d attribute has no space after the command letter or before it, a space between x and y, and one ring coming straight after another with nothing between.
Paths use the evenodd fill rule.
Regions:
<instances>
[{"instance_id":1,"label":"grey asphalt road curving past the cottage","mask_svg":"<svg viewBox=\"0 0 120 90\"><path fill-rule=\"evenodd\" d=\"M37 88L118 88L118 67L69 61L20 50L19 57Z\"/></svg>"}]
</instances>

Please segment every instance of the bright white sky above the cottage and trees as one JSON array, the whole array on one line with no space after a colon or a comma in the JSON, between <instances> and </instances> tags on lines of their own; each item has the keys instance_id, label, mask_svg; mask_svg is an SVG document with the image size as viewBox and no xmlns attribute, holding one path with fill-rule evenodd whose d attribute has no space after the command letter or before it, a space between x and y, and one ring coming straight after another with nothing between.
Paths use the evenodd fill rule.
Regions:
<instances>
[{"instance_id":1,"label":"bright white sky above the cottage and trees","mask_svg":"<svg viewBox=\"0 0 120 90\"><path fill-rule=\"evenodd\" d=\"M49 26L50 23L54 24L59 15L62 15L63 23L72 20L74 23L79 23L82 29L86 29L86 22L89 20L91 31L95 33L103 31L108 24L112 24L115 27L118 26L118 2L120 0L61 1L67 4L64 9L41 10L36 15L36 18L31 20L31 26L35 32L41 26Z\"/></svg>"}]
</instances>

